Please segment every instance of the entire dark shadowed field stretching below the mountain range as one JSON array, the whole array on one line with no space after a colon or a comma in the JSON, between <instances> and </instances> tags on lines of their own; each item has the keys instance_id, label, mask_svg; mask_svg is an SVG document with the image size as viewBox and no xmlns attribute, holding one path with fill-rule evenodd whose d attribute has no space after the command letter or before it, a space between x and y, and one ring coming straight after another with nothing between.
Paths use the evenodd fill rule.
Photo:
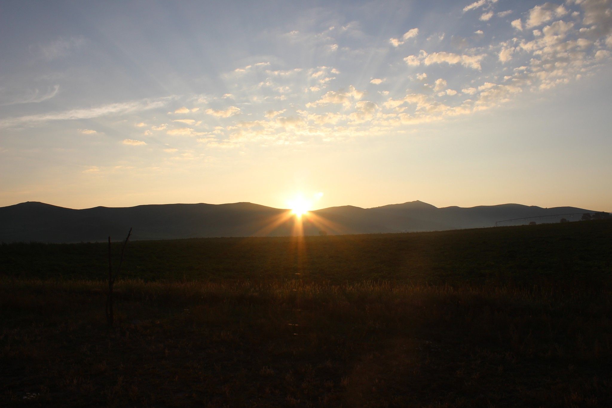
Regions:
<instances>
[{"instance_id":1,"label":"entire dark shadowed field stretching below the mountain range","mask_svg":"<svg viewBox=\"0 0 612 408\"><path fill-rule=\"evenodd\" d=\"M612 222L0 247L0 405L610 406ZM114 248L117 252L117 248Z\"/></svg>"}]
</instances>

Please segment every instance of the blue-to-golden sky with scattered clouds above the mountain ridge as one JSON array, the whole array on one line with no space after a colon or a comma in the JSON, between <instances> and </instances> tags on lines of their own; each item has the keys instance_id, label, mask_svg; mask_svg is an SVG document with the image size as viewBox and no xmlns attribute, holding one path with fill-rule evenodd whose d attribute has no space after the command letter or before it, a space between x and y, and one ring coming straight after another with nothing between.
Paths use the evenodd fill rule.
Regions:
<instances>
[{"instance_id":1,"label":"blue-to-golden sky with scattered clouds above the mountain ridge","mask_svg":"<svg viewBox=\"0 0 612 408\"><path fill-rule=\"evenodd\" d=\"M3 0L0 54L0 206L612 211L612 0Z\"/></svg>"}]
</instances>

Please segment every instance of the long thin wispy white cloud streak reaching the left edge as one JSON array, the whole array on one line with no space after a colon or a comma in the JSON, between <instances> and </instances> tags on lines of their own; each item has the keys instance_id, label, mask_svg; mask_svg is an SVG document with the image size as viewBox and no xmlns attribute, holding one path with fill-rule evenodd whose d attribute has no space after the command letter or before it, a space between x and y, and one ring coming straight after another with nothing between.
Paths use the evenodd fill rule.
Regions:
<instances>
[{"instance_id":1,"label":"long thin wispy white cloud streak reaching the left edge","mask_svg":"<svg viewBox=\"0 0 612 408\"><path fill-rule=\"evenodd\" d=\"M48 121L73 121L76 119L92 119L113 114L135 113L157 109L167 105L174 97L163 97L157 99L141 99L130 102L110 103L86 109L70 109L68 111L44 113L28 116L10 117L0 121L0 127L10 127L23 124L37 124Z\"/></svg>"}]
</instances>

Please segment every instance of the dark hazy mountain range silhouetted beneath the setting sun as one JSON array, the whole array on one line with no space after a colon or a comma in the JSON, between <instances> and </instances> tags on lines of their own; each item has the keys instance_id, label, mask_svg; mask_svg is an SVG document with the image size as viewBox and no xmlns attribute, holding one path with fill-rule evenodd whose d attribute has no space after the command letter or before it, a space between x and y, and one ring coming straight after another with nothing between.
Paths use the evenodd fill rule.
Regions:
<instances>
[{"instance_id":1,"label":"dark hazy mountain range silhouetted beneath the setting sun","mask_svg":"<svg viewBox=\"0 0 612 408\"><path fill-rule=\"evenodd\" d=\"M329 207L310 212L298 221L289 210L250 202L231 204L161 204L136 207L94 207L74 210L43 202L0 207L1 242L95 242L108 236L121 240L133 227L133 239L195 237L288 236L292 234L368 234L378 232L439 231L494 226L496 221L556 214L593 213L576 207L544 209L520 204L438 208L422 201L364 209ZM578 220L580 215L565 217ZM505 223L505 224L517 224Z\"/></svg>"}]
</instances>

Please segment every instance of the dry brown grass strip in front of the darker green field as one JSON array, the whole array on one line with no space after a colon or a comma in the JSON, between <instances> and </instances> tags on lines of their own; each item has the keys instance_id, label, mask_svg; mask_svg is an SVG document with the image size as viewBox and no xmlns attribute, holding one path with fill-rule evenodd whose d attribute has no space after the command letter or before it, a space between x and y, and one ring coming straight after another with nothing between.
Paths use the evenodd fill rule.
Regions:
<instances>
[{"instance_id":1,"label":"dry brown grass strip in front of the darker green field","mask_svg":"<svg viewBox=\"0 0 612 408\"><path fill-rule=\"evenodd\" d=\"M2 398L110 406L606 406L610 291L2 280Z\"/></svg>"}]
</instances>

